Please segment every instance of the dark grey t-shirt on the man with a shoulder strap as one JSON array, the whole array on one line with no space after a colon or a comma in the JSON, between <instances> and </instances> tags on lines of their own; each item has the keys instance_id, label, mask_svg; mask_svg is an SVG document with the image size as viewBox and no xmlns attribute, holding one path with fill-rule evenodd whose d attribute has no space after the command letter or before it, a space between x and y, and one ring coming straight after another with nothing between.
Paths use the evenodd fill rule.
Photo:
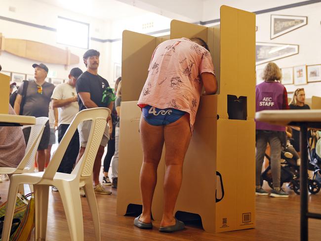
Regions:
<instances>
[{"instance_id":1,"label":"dark grey t-shirt on the man with a shoulder strap","mask_svg":"<svg viewBox=\"0 0 321 241\"><path fill-rule=\"evenodd\" d=\"M23 83L18 89L18 94L22 95ZM41 88L38 88L35 80L30 80L27 88L26 102L23 107L23 116L48 117L49 103L55 86L52 83L44 82Z\"/></svg>"}]
</instances>

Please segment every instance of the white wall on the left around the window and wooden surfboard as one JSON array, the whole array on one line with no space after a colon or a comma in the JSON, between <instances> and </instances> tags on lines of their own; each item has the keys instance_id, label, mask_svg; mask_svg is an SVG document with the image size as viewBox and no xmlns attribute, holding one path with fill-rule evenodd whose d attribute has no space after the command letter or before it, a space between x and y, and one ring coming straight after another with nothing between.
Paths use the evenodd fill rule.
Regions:
<instances>
[{"instance_id":1,"label":"white wall on the left around the window and wooden surfboard","mask_svg":"<svg viewBox=\"0 0 321 241\"><path fill-rule=\"evenodd\" d=\"M9 11L9 6L16 8L15 12ZM56 28L57 16L67 17L73 20L86 22L90 24L90 37L105 39L110 33L111 24L107 21L102 21L90 17L86 17L81 14L73 13L46 3L34 1L34 0L1 0L0 16L13 18L25 22L39 24L51 28ZM108 31L109 30L109 31ZM34 40L43 43L47 43L56 47L65 49L63 44L56 43L56 32L35 28L19 23L13 23L10 21L0 20L0 33L5 38ZM89 47L97 49L101 52L101 63L99 73L100 75L107 76L109 66L107 65L107 57L104 48L104 44L98 41L90 41ZM85 66L82 62L82 55L86 49L68 46L73 54L80 56L80 63L78 65L71 65L65 70L64 65L46 64L49 70L57 72L57 78L67 79L70 70L74 67L79 67L83 71ZM10 71L16 73L33 74L34 69L32 64L37 61L28 60L25 58L17 57L6 52L2 52L0 55L0 64L3 71Z\"/></svg>"}]
</instances>

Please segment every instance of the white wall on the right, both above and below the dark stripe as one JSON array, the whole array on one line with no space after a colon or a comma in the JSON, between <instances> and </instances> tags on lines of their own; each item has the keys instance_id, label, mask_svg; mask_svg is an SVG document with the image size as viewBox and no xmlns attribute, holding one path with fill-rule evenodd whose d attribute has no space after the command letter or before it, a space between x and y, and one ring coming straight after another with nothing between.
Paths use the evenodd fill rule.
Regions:
<instances>
[{"instance_id":1,"label":"white wall on the right, both above and below the dark stripe","mask_svg":"<svg viewBox=\"0 0 321 241\"><path fill-rule=\"evenodd\" d=\"M300 2L300 0L204 0L203 20L206 21L218 19L219 7L223 4L252 12L287 5L295 2ZM308 16L308 25L282 35L276 39L270 40L271 14ZM299 45L299 54L274 61L280 68L298 65L321 64L320 16L321 2L258 14L256 15L256 26L258 26L258 31L256 32L256 41ZM256 69L264 69L264 66L265 64L258 65ZM288 92L292 92L296 88L304 87L306 96L308 98L313 95L321 96L321 82L308 83L305 85L285 85L285 87ZM291 95L292 94L290 94L290 96Z\"/></svg>"}]
</instances>

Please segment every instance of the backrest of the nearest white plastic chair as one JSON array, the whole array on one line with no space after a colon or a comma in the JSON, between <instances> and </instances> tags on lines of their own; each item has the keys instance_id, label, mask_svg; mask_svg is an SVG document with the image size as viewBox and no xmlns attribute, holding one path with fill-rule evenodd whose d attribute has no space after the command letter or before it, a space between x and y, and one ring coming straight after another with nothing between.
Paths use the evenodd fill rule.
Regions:
<instances>
[{"instance_id":1,"label":"backrest of the nearest white plastic chair","mask_svg":"<svg viewBox=\"0 0 321 241\"><path fill-rule=\"evenodd\" d=\"M56 152L52 156L49 165L44 171L42 178L50 180L53 179L60 165L60 162L66 152L68 144L70 143L70 140L73 137L78 125L82 121L92 121L89 138L87 142L88 148L85 149L82 158L75 166L72 174L76 174L80 177L80 174L82 175L82 171L84 170L85 175L90 175L93 168L93 161L95 160L102 136L104 134L105 126L107 124L107 118L110 115L110 113L111 111L108 108L92 108L80 111L75 116L72 123L69 125L64 137L58 145Z\"/></svg>"}]
</instances>

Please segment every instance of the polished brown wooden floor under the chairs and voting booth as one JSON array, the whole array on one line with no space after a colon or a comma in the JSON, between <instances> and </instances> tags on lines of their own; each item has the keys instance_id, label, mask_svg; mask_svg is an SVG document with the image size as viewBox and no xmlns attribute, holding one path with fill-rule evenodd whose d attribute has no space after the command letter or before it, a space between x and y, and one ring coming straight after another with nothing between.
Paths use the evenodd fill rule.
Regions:
<instances>
[{"instance_id":1,"label":"polished brown wooden floor under the chairs and voting booth","mask_svg":"<svg viewBox=\"0 0 321 241\"><path fill-rule=\"evenodd\" d=\"M0 204L6 201L8 181L0 183ZM141 230L133 226L134 217L116 214L117 191L111 196L98 195L102 241L299 241L300 196L286 189L289 198L256 197L256 228L220 234L203 231L200 225L190 224L174 234L158 231L159 222L153 230ZM269 188L266 188L267 190ZM94 241L91 215L85 198L81 198L84 240ZM198 203L196 203L197 205ZM309 195L309 208L321 213L321 192ZM31 240L34 240L34 234ZM47 241L69 241L70 235L58 192L49 194ZM321 241L321 220L309 221L309 241Z\"/></svg>"}]
</instances>

